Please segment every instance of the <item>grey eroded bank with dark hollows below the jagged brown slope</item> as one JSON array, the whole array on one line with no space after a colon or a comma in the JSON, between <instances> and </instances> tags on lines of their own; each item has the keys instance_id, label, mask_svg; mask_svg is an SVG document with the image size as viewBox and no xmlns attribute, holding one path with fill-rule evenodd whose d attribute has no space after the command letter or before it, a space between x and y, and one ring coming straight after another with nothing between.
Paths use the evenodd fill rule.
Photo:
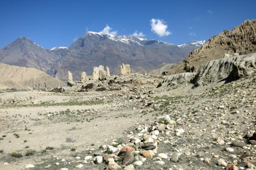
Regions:
<instances>
[{"instance_id":1,"label":"grey eroded bank with dark hollows below the jagged brown slope","mask_svg":"<svg viewBox=\"0 0 256 170\"><path fill-rule=\"evenodd\" d=\"M217 59L201 65L192 83L206 85L227 78L241 78L256 72L256 53Z\"/></svg>"}]
</instances>

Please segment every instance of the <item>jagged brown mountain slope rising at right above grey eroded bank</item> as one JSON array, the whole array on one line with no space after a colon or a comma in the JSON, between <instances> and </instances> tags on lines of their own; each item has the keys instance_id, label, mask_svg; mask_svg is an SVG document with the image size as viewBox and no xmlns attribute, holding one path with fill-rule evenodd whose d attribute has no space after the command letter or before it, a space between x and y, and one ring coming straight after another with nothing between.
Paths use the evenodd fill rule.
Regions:
<instances>
[{"instance_id":1,"label":"jagged brown mountain slope rising at right above grey eroded bank","mask_svg":"<svg viewBox=\"0 0 256 170\"><path fill-rule=\"evenodd\" d=\"M177 63L163 74L194 72L199 66L226 56L256 52L256 20L245 20L231 31L225 30L211 37L201 48L193 50L182 62Z\"/></svg>"}]
</instances>

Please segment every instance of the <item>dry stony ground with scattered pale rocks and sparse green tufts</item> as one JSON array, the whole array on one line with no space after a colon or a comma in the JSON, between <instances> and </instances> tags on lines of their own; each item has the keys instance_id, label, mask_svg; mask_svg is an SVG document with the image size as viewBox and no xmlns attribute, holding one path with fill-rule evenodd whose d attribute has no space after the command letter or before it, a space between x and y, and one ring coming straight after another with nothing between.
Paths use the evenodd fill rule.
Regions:
<instances>
[{"instance_id":1,"label":"dry stony ground with scattered pale rocks and sparse green tufts","mask_svg":"<svg viewBox=\"0 0 256 170\"><path fill-rule=\"evenodd\" d=\"M162 81L132 74L1 91L0 169L255 169L255 74L198 87Z\"/></svg>"}]
</instances>

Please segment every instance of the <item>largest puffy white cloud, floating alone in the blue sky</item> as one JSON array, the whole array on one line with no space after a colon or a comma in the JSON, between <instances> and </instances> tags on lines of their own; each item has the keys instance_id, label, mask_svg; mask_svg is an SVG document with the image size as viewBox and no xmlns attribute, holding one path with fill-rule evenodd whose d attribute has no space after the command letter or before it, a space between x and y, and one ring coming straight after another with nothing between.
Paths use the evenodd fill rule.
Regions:
<instances>
[{"instance_id":1,"label":"largest puffy white cloud, floating alone in the blue sky","mask_svg":"<svg viewBox=\"0 0 256 170\"><path fill-rule=\"evenodd\" d=\"M151 31L158 34L160 37L170 35L171 32L167 30L168 26L164 20L151 19Z\"/></svg>"}]
</instances>

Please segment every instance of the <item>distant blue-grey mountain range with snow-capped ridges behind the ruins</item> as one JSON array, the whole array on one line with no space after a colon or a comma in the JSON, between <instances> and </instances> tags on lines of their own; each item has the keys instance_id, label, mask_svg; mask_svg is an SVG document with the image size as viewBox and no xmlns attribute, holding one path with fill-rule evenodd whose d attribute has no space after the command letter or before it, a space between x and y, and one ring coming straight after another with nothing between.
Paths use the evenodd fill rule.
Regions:
<instances>
[{"instance_id":1,"label":"distant blue-grey mountain range with snow-capped ridges behind the ruins","mask_svg":"<svg viewBox=\"0 0 256 170\"><path fill-rule=\"evenodd\" d=\"M88 32L69 47L48 50L21 37L0 49L0 62L34 67L65 81L68 71L73 72L74 79L79 79L81 72L90 75L98 65L108 66L112 74L117 74L122 63L130 64L132 72L175 63L200 46L200 41L177 46L131 35Z\"/></svg>"}]
</instances>

